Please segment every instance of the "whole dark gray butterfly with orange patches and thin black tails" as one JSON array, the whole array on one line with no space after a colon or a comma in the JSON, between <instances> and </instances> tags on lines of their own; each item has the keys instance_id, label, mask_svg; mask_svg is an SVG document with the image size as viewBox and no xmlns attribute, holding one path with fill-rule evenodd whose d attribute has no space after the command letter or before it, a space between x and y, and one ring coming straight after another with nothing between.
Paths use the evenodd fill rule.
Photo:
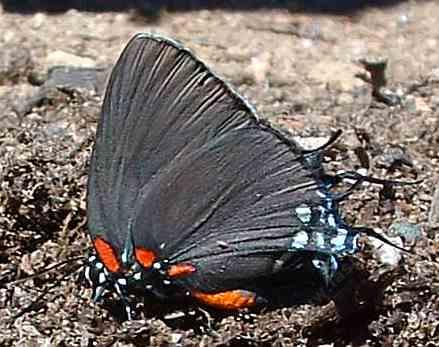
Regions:
<instances>
[{"instance_id":1,"label":"whole dark gray butterfly with orange patches and thin black tails","mask_svg":"<svg viewBox=\"0 0 439 347\"><path fill-rule=\"evenodd\" d=\"M339 135L337 133L327 145ZM327 145L301 148L180 44L136 35L104 99L88 183L96 255L85 277L116 293L215 309L291 305L328 292L359 233L338 203ZM345 194L330 189L356 181Z\"/></svg>"}]
</instances>

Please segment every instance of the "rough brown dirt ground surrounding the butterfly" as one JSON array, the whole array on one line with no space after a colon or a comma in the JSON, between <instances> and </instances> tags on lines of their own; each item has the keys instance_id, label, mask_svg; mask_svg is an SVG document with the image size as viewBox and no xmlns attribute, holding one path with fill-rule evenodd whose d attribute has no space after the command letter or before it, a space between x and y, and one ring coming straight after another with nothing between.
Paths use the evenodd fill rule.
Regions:
<instances>
[{"instance_id":1,"label":"rough brown dirt ground surrounding the butterfly","mask_svg":"<svg viewBox=\"0 0 439 347\"><path fill-rule=\"evenodd\" d=\"M437 1L342 14L196 4L47 12L43 1L11 3L0 7L1 346L439 345ZM209 324L152 313L123 322L114 302L93 304L79 269L91 250L88 159L108 68L137 32L183 42L294 136L315 143L342 129L330 170L423 179L395 192L368 186L343 204L349 222L379 227L418 256L386 260L363 238L336 304L211 314ZM372 96L359 61L377 58L388 60L388 91Z\"/></svg>"}]
</instances>

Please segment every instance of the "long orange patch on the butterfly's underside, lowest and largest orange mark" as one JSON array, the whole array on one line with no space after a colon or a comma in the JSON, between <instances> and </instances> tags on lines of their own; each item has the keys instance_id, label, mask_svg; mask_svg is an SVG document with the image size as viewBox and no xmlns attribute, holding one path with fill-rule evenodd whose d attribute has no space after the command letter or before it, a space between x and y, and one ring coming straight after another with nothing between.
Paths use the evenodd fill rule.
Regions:
<instances>
[{"instance_id":1,"label":"long orange patch on the butterfly's underside, lowest and largest orange mark","mask_svg":"<svg viewBox=\"0 0 439 347\"><path fill-rule=\"evenodd\" d=\"M256 304L256 295L246 290L230 290L220 293L192 292L198 301L220 310L237 310Z\"/></svg>"}]
</instances>

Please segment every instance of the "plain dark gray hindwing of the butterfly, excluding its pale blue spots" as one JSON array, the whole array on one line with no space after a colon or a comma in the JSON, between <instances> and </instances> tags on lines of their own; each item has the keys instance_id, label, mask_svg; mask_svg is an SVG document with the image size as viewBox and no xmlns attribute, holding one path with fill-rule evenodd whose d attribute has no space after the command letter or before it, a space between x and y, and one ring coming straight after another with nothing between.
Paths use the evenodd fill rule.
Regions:
<instances>
[{"instance_id":1,"label":"plain dark gray hindwing of the butterfly, excluding its pale blue spots","mask_svg":"<svg viewBox=\"0 0 439 347\"><path fill-rule=\"evenodd\" d=\"M314 175L262 126L230 130L144 187L135 244L149 248L154 238L161 257L194 265L190 287L243 288L280 270L277 261L293 251L305 230L297 207L321 203Z\"/></svg>"}]
</instances>

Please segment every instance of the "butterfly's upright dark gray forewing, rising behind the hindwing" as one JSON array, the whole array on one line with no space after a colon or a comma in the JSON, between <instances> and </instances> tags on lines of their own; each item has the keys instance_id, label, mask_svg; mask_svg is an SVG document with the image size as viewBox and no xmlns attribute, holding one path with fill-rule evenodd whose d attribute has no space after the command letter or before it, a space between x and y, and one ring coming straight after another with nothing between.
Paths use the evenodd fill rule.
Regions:
<instances>
[{"instance_id":1,"label":"butterfly's upright dark gray forewing, rising behind the hindwing","mask_svg":"<svg viewBox=\"0 0 439 347\"><path fill-rule=\"evenodd\" d=\"M173 41L145 34L130 41L107 87L90 164L92 235L121 250L141 188L177 158L249 121L245 102L218 81ZM158 245L151 237L148 246Z\"/></svg>"}]
</instances>

